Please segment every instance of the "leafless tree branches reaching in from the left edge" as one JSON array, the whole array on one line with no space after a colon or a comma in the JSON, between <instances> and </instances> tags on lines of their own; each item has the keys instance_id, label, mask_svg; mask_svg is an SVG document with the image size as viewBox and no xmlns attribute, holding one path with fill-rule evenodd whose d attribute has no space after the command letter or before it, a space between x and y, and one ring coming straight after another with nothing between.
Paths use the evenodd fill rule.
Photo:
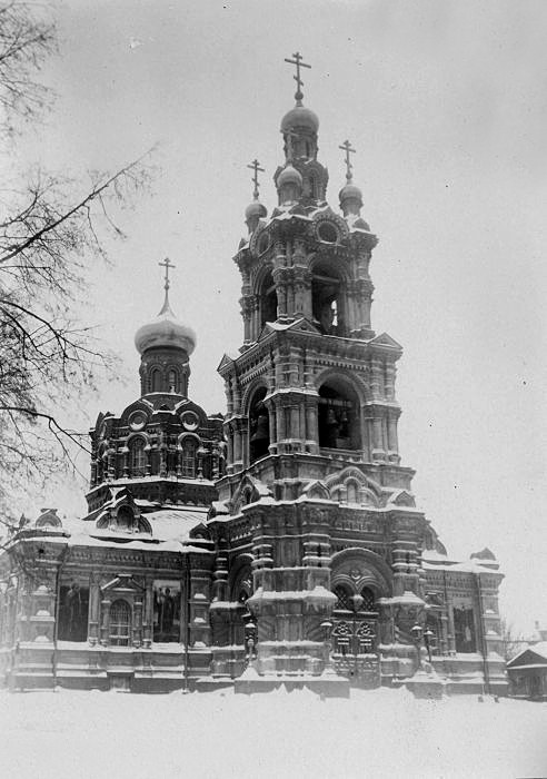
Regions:
<instances>
[{"instance_id":1,"label":"leafless tree branches reaching in from the left edge","mask_svg":"<svg viewBox=\"0 0 547 779\"><path fill-rule=\"evenodd\" d=\"M13 137L14 119L38 120L48 106L36 77L56 51L47 8L0 2L4 138ZM90 259L106 258L106 231L123 237L111 209L147 185L149 155L84 183L34 166L24 186L0 190L0 522L11 526L13 495L73 465L74 447L86 448L58 410L95 386L108 358L76 312Z\"/></svg>"}]
</instances>

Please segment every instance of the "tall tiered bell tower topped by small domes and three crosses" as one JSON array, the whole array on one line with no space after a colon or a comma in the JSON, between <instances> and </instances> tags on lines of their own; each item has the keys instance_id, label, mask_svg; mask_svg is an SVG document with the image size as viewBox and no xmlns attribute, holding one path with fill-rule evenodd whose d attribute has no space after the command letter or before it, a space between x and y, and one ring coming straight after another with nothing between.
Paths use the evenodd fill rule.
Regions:
<instances>
[{"instance_id":1,"label":"tall tiered bell tower topped by small domes and three crosses","mask_svg":"<svg viewBox=\"0 0 547 779\"><path fill-rule=\"evenodd\" d=\"M436 539L409 492L414 471L399 464L401 347L370 324L377 238L360 215L355 150L348 141L340 147L339 213L326 200L319 119L302 102L300 69L309 66L298 53L286 61L297 69L296 105L281 121L285 162L274 176L278 205L269 218L258 194L261 168L249 166L248 236L235 257L243 343L219 366L228 454L211 523L232 549L228 569L252 573L245 596L265 679L324 670L326 631L344 588L346 607L357 604L369 619L376 649L394 642L396 624L410 635L424 605L420 549Z\"/></svg>"}]
</instances>

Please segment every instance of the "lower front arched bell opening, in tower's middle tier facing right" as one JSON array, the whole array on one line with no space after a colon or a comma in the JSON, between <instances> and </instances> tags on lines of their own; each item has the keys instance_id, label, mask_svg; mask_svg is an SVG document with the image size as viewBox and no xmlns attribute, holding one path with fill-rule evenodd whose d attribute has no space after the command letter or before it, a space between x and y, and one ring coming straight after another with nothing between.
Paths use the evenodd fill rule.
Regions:
<instances>
[{"instance_id":1,"label":"lower front arched bell opening, in tower's middle tier facing right","mask_svg":"<svg viewBox=\"0 0 547 779\"><path fill-rule=\"evenodd\" d=\"M318 427L320 447L361 448L359 400L346 382L329 378L319 387Z\"/></svg>"}]
</instances>

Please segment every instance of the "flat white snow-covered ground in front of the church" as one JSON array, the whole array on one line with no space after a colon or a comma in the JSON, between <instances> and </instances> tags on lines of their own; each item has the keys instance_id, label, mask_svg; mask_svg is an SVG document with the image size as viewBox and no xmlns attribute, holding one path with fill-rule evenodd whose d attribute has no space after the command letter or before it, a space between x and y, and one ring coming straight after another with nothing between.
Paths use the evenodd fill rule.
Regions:
<instances>
[{"instance_id":1,"label":"flat white snow-covered ground in front of the church","mask_svg":"<svg viewBox=\"0 0 547 779\"><path fill-rule=\"evenodd\" d=\"M547 703L406 691L0 693L4 779L546 777Z\"/></svg>"}]
</instances>

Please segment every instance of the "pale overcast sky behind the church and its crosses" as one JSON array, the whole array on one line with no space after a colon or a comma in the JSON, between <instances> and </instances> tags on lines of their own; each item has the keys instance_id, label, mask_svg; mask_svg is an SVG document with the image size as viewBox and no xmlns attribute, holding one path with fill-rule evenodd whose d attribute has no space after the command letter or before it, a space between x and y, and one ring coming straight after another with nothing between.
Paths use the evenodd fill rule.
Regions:
<instances>
[{"instance_id":1,"label":"pale overcast sky behind the church and its crosses","mask_svg":"<svg viewBox=\"0 0 547 779\"><path fill-rule=\"evenodd\" d=\"M138 396L132 337L159 310L166 255L172 306L198 334L190 395L225 411L216 367L242 339L231 257L251 198L246 165L266 167L271 210L295 91L284 58L300 50L335 208L338 146L358 151L362 216L380 239L372 325L405 347L400 451L419 504L449 552L497 553L510 619L526 632L547 624L547 3L67 0L58 18L61 57L44 78L59 99L21 156L77 172L161 142L153 196L123 213L113 267L89 277L86 316L129 381L76 423Z\"/></svg>"}]
</instances>

